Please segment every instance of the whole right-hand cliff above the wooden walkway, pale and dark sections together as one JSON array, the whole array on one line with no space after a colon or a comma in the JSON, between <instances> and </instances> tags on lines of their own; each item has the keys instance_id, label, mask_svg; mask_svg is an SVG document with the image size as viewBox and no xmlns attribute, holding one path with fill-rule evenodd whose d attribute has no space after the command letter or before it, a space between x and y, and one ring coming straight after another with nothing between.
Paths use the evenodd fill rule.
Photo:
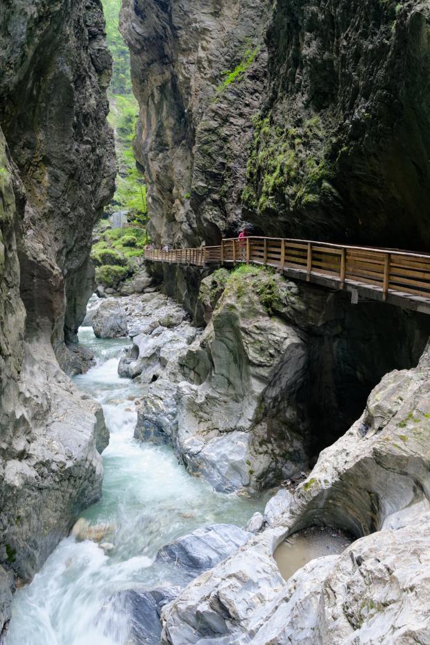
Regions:
<instances>
[{"instance_id":1,"label":"whole right-hand cliff above the wooden walkway, pale and dark sections together","mask_svg":"<svg viewBox=\"0 0 430 645\"><path fill-rule=\"evenodd\" d=\"M420 0L126 0L155 239L245 220L429 248L429 21Z\"/></svg>"}]
</instances>

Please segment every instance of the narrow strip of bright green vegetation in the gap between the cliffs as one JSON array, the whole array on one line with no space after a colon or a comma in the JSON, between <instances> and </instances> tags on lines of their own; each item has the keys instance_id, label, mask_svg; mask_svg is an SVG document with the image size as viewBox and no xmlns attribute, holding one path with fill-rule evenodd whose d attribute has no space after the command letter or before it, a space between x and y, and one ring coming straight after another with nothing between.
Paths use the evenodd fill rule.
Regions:
<instances>
[{"instance_id":1,"label":"narrow strip of bright green vegetation in the gap between the cliffs","mask_svg":"<svg viewBox=\"0 0 430 645\"><path fill-rule=\"evenodd\" d=\"M121 0L103 0L107 44L113 58L112 81L108 90L109 121L115 132L118 160L117 190L111 210L128 210L132 223L144 224L147 210L146 187L132 151L139 105L132 93L130 53L119 33L120 9Z\"/></svg>"}]
</instances>

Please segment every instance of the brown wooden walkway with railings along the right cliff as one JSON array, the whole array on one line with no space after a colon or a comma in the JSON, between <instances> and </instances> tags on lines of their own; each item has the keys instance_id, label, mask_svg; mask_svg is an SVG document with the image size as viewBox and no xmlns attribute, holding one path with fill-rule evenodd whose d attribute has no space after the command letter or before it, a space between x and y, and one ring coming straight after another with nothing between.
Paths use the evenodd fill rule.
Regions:
<instances>
[{"instance_id":1,"label":"brown wooden walkway with railings along the right cliff","mask_svg":"<svg viewBox=\"0 0 430 645\"><path fill-rule=\"evenodd\" d=\"M292 279L345 289L352 302L381 300L430 313L430 254L309 240L248 237L221 246L145 250L150 262L189 266L234 266L241 262L276 268Z\"/></svg>"}]
</instances>

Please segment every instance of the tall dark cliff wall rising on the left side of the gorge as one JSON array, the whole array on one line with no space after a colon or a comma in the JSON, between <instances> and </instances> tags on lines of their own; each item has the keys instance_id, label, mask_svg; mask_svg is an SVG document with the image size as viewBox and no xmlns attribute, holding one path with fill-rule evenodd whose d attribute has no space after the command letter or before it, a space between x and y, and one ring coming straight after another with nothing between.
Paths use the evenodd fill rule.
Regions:
<instances>
[{"instance_id":1,"label":"tall dark cliff wall rising on the left side of the gorge","mask_svg":"<svg viewBox=\"0 0 430 645\"><path fill-rule=\"evenodd\" d=\"M71 293L85 300L91 286L92 227L112 192L110 53L97 0L3 3L0 18L0 124L25 192L27 328L51 328L55 344L63 327L72 339L85 315Z\"/></svg>"}]
</instances>

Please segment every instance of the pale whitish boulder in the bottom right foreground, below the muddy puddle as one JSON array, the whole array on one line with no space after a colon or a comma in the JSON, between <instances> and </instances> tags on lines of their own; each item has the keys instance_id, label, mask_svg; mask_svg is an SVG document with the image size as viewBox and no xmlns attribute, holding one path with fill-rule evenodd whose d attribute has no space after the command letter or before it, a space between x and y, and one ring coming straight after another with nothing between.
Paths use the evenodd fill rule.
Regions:
<instances>
[{"instance_id":1,"label":"pale whitish boulder in the bottom right foreground, below the muddy puddle","mask_svg":"<svg viewBox=\"0 0 430 645\"><path fill-rule=\"evenodd\" d=\"M262 534L193 580L162 612L164 645L424 643L430 615L430 513L357 540L288 581Z\"/></svg>"}]
</instances>

